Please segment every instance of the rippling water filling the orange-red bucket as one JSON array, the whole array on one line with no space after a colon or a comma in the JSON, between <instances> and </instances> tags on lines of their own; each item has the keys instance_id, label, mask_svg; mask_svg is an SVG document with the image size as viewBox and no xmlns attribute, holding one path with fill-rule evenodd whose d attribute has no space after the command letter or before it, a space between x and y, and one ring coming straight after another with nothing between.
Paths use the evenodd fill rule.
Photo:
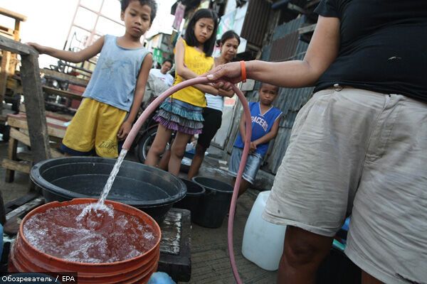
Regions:
<instances>
[{"instance_id":1,"label":"rippling water filling the orange-red bucket","mask_svg":"<svg viewBox=\"0 0 427 284\"><path fill-rule=\"evenodd\" d=\"M82 263L125 261L158 241L152 226L137 217L111 205L82 212L85 207L88 204L70 204L34 214L23 224L23 234L43 253Z\"/></svg>"}]
</instances>

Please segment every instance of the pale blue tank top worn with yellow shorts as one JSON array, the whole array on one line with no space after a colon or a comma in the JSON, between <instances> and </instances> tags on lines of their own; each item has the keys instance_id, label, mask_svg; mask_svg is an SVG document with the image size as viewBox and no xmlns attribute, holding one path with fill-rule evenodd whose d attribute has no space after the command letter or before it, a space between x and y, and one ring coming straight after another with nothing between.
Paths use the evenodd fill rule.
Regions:
<instances>
[{"instance_id":1,"label":"pale blue tank top worn with yellow shorts","mask_svg":"<svg viewBox=\"0 0 427 284\"><path fill-rule=\"evenodd\" d=\"M148 53L144 47L122 48L117 45L116 36L105 35L100 57L83 97L130 111L139 70Z\"/></svg>"}]
</instances>

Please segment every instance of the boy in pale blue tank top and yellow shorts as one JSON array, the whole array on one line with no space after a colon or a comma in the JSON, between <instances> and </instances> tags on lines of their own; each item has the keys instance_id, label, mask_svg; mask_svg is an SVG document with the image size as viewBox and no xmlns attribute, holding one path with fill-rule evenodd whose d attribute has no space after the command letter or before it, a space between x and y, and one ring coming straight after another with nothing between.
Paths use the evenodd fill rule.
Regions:
<instances>
[{"instance_id":1,"label":"boy in pale blue tank top and yellow shorts","mask_svg":"<svg viewBox=\"0 0 427 284\"><path fill-rule=\"evenodd\" d=\"M117 158L118 141L127 137L135 121L152 55L141 37L157 12L154 0L121 0L125 35L104 35L78 52L28 43L39 53L67 62L83 62L100 53L83 101L67 128L61 150L68 155Z\"/></svg>"}]
</instances>

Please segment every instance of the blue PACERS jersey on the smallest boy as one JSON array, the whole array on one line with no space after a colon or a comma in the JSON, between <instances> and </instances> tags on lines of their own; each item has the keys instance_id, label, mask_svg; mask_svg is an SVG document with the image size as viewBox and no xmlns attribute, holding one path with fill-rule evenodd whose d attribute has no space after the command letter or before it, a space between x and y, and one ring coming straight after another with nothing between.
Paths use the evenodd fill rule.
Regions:
<instances>
[{"instance_id":1,"label":"blue PACERS jersey on the smallest boy","mask_svg":"<svg viewBox=\"0 0 427 284\"><path fill-rule=\"evenodd\" d=\"M265 114L261 114L260 102L249 102L249 109L251 110L252 120L251 141L255 141L270 132L274 122L282 115L282 111L275 107L271 107L271 109L265 111ZM234 146L238 148L243 148L243 146L245 146L240 133L238 133ZM267 151L268 143L263 143L256 147L255 153L259 153L261 156L264 156Z\"/></svg>"}]
</instances>

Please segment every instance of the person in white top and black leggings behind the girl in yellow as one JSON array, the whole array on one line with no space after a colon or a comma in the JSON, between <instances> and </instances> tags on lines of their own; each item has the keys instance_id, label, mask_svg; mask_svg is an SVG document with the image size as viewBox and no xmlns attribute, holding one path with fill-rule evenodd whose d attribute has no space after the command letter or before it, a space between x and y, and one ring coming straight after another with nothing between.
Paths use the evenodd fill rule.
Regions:
<instances>
[{"instance_id":1,"label":"person in white top and black leggings behind the girl in yellow","mask_svg":"<svg viewBox=\"0 0 427 284\"><path fill-rule=\"evenodd\" d=\"M218 42L221 55L215 58L215 66L231 62L236 57L240 37L234 31L226 31ZM196 153L194 154L188 174L189 179L193 178L199 172L204 159L204 153L211 145L211 141L221 127L222 122L223 97L212 94L206 94L205 97L208 105L203 110L203 129L197 139ZM233 94L231 97L233 97Z\"/></svg>"}]
</instances>

